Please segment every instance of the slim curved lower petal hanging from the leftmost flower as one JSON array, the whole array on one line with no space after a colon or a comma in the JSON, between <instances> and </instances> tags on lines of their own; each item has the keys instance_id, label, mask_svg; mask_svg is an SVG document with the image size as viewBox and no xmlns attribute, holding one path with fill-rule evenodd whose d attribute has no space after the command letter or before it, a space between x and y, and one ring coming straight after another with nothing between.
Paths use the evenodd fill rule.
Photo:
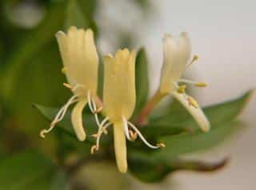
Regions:
<instances>
[{"instance_id":1,"label":"slim curved lower petal hanging from the leftmost flower","mask_svg":"<svg viewBox=\"0 0 256 190\"><path fill-rule=\"evenodd\" d=\"M79 141L86 140L86 132L82 125L82 110L86 106L86 103L86 99L78 101L78 103L74 105L74 109L71 113L71 122Z\"/></svg>"}]
</instances>

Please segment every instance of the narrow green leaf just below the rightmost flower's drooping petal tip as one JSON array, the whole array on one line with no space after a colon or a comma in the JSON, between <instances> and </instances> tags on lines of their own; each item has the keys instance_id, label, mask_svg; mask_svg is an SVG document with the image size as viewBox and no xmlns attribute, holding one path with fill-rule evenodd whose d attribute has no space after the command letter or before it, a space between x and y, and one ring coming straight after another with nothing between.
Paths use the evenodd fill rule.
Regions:
<instances>
[{"instance_id":1,"label":"narrow green leaf just below the rightmost flower's drooping petal tip","mask_svg":"<svg viewBox=\"0 0 256 190\"><path fill-rule=\"evenodd\" d=\"M158 159L172 158L182 154L197 152L212 148L225 141L231 134L242 128L238 122L226 122L215 125L208 133L197 131L195 133L185 133L181 135L162 137L159 141L166 144L166 148L154 153Z\"/></svg>"}]
</instances>

